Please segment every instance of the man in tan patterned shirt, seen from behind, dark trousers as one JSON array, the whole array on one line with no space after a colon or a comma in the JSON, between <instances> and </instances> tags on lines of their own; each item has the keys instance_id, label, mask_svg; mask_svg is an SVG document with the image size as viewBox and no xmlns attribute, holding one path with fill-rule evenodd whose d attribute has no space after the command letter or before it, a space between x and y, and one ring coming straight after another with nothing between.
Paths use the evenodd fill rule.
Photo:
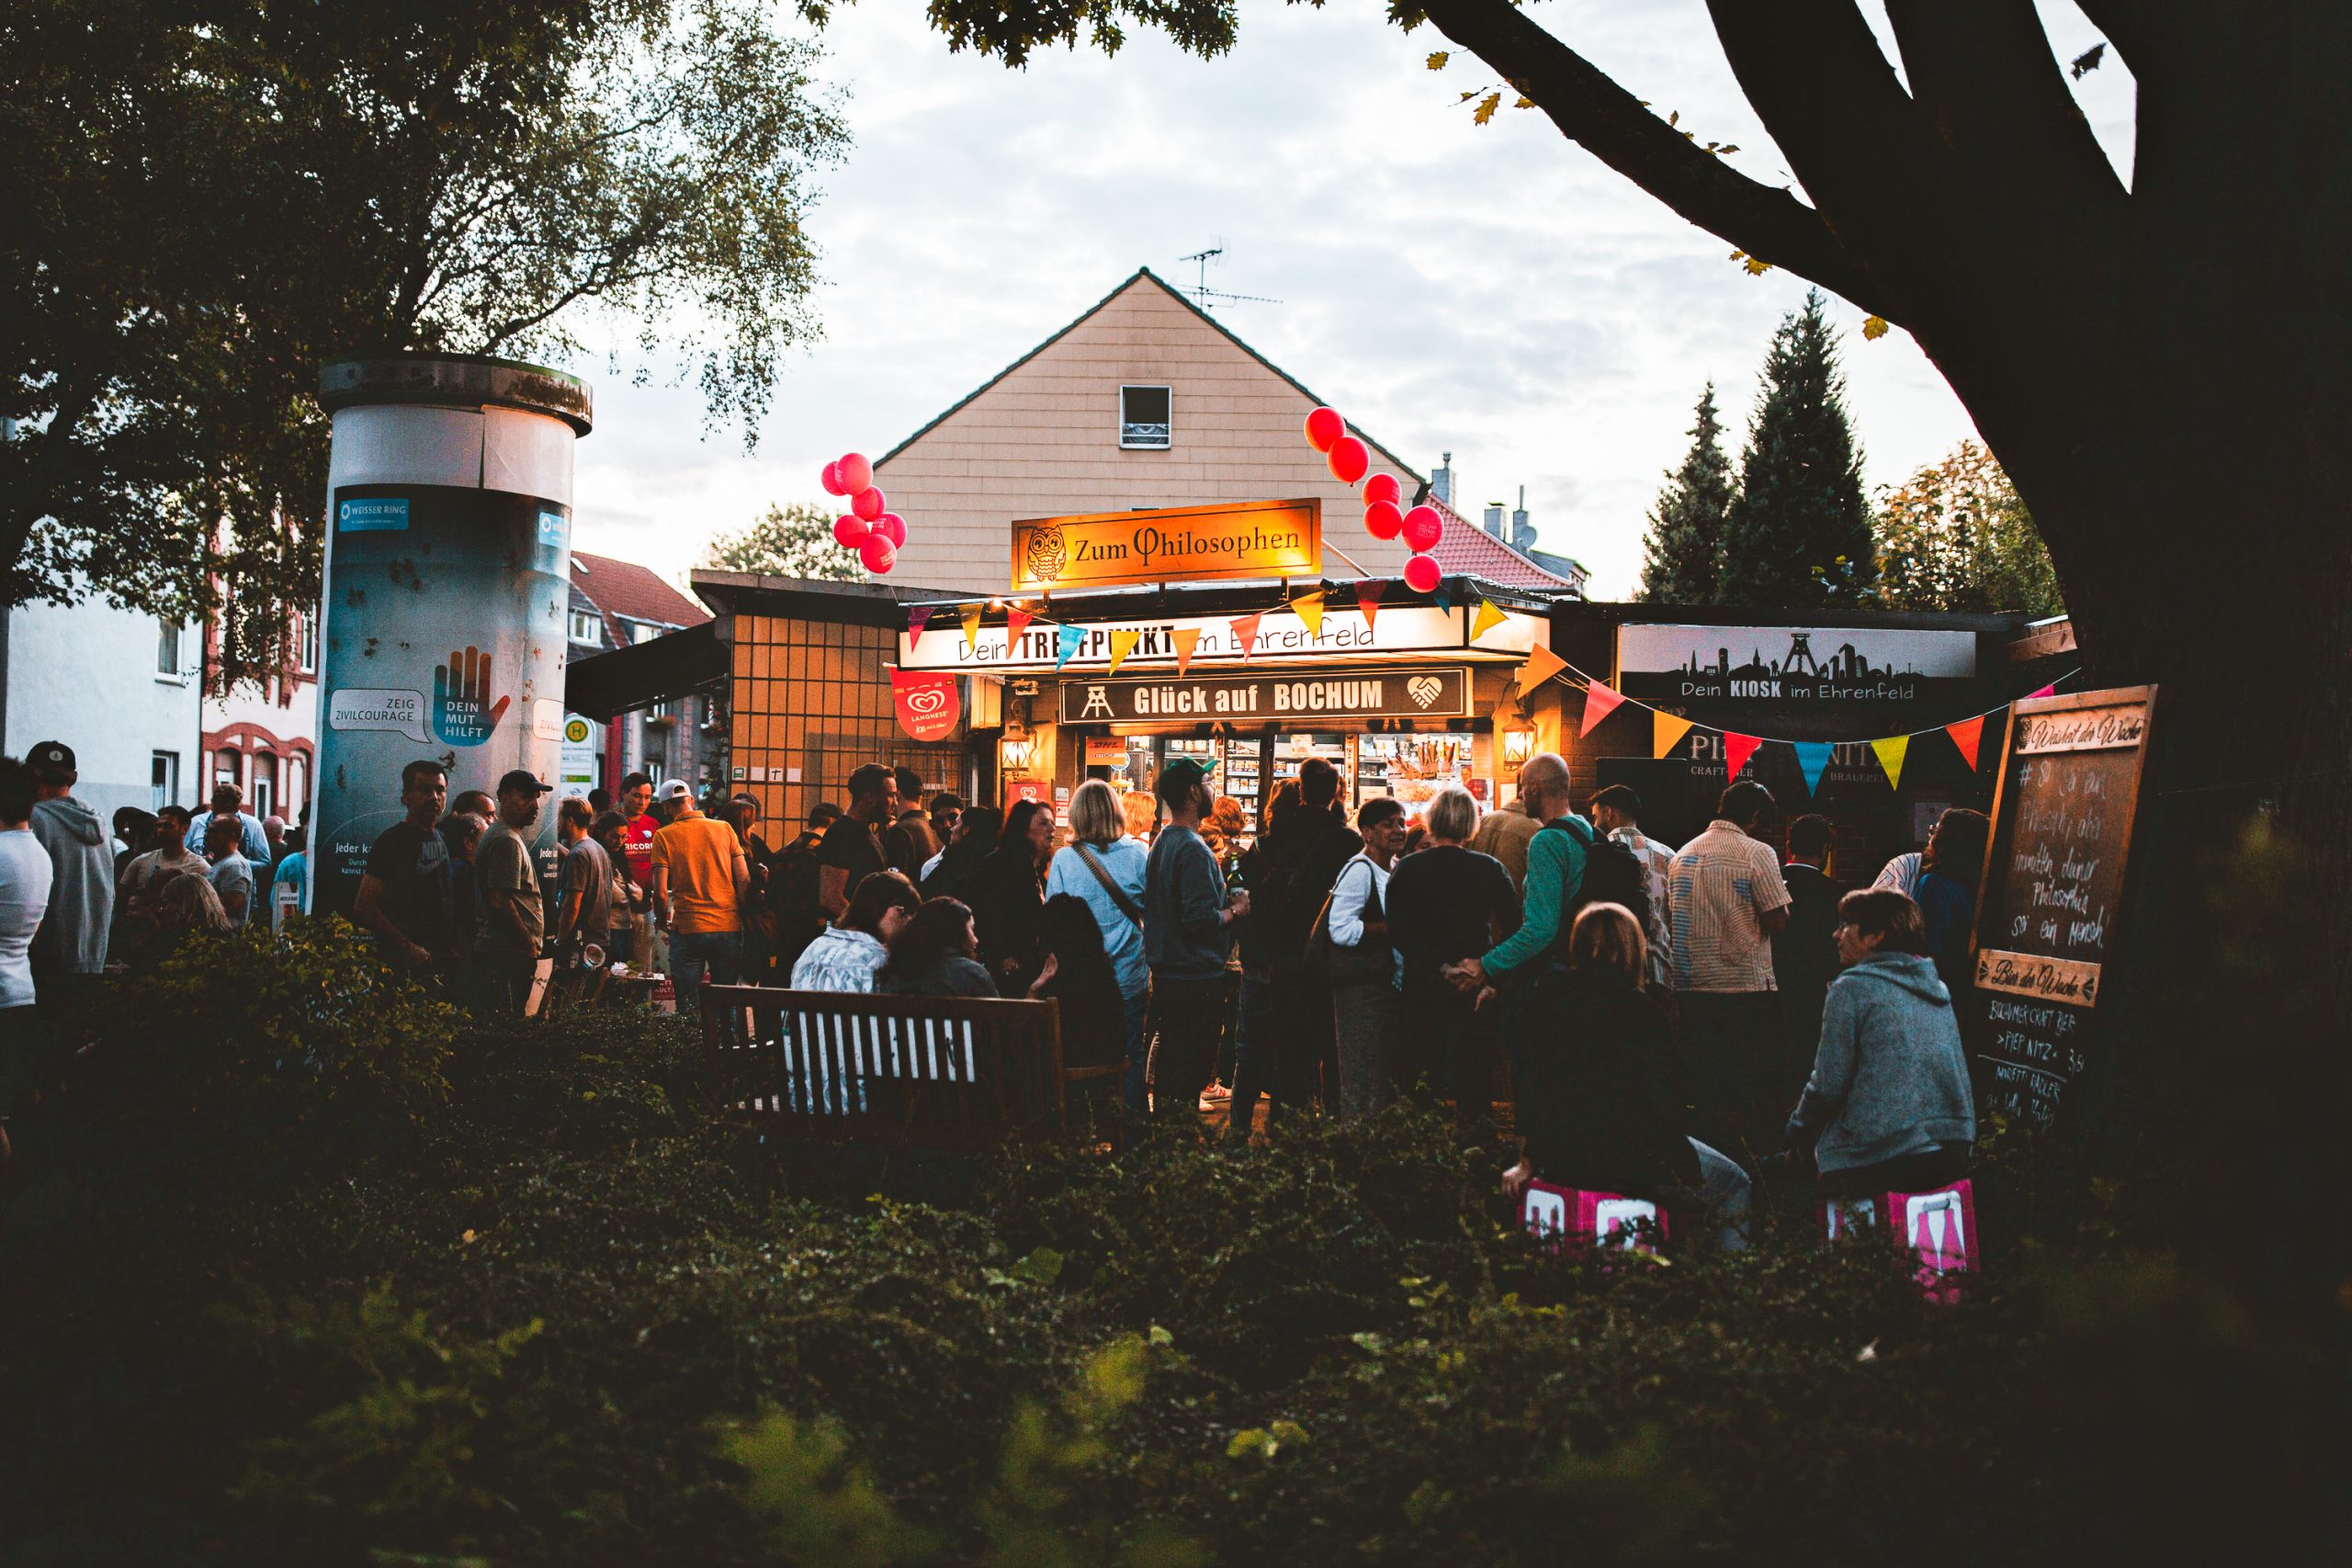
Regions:
<instances>
[{"instance_id":1,"label":"man in tan patterned shirt, seen from behind, dark trousers","mask_svg":"<svg viewBox=\"0 0 2352 1568\"><path fill-rule=\"evenodd\" d=\"M1764 785L1731 785L1665 877L1696 1135L1731 1152L1745 1140L1750 1157L1776 1138L1802 1088L1783 1081L1792 1058L1771 966L1790 893L1780 856L1755 837L1771 811Z\"/></svg>"}]
</instances>

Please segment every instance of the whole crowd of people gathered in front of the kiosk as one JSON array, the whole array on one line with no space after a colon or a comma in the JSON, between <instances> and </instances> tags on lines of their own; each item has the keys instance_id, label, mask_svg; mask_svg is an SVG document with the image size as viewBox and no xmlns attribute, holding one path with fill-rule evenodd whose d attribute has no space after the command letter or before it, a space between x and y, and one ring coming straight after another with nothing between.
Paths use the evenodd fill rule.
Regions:
<instances>
[{"instance_id":1,"label":"whole crowd of people gathered in front of the kiosk","mask_svg":"<svg viewBox=\"0 0 2352 1568\"><path fill-rule=\"evenodd\" d=\"M42 1011L188 931L299 907L308 877L303 827L256 820L233 785L108 832L73 783L59 743L0 759L0 1119L40 1077ZM1976 811L1849 889L1825 818L1788 823L1783 863L1759 783L1668 849L1625 785L1578 811L1557 755L1519 771L1512 806L1446 788L1418 823L1390 797L1350 820L1310 759L1256 837L1190 759L1150 792L1082 783L1061 825L1037 799L967 809L870 764L781 844L748 795L706 811L684 780L630 773L619 799L557 802L546 879L536 776L449 799L419 759L397 788L353 919L388 966L487 1011L524 1011L541 959L666 971L682 1013L739 980L1049 997L1068 1065L1124 1065L1136 1114L1223 1100L1237 1143L1261 1100L1279 1124L1432 1093L1486 1145L1508 1060L1524 1154L1505 1190L1682 1194L1733 1222L1783 1150L1863 1192L1950 1180L1976 1138L1952 1006Z\"/></svg>"}]
</instances>

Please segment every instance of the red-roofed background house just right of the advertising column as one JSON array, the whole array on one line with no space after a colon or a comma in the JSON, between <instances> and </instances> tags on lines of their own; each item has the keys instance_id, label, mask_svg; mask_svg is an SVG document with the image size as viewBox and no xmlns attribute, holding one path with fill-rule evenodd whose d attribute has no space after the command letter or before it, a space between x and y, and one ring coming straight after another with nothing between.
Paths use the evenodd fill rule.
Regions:
<instances>
[{"instance_id":1,"label":"red-roofed background house just right of the advertising column","mask_svg":"<svg viewBox=\"0 0 2352 1568\"><path fill-rule=\"evenodd\" d=\"M569 656L588 658L607 649L652 642L710 621L710 611L666 583L649 567L609 555L572 552ZM628 773L654 783L684 778L696 790L727 778L724 698L689 693L652 708L623 712L600 726L602 748L595 783L612 790Z\"/></svg>"}]
</instances>

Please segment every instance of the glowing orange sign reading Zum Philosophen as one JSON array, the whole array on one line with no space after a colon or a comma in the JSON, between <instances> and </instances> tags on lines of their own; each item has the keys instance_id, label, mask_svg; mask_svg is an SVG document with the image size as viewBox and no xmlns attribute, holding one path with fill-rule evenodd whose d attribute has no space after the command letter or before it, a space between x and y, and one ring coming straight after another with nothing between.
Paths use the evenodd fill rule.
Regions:
<instances>
[{"instance_id":1,"label":"glowing orange sign reading Zum Philosophen","mask_svg":"<svg viewBox=\"0 0 2352 1568\"><path fill-rule=\"evenodd\" d=\"M1014 524L1014 592L1322 576L1322 501L1237 501Z\"/></svg>"}]
</instances>

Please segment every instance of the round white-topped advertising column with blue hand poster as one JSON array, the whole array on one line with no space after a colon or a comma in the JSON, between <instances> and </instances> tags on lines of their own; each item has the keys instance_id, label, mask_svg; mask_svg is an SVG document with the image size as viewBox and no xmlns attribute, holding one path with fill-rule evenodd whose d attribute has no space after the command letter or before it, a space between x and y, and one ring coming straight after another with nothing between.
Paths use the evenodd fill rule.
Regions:
<instances>
[{"instance_id":1,"label":"round white-topped advertising column with blue hand poster","mask_svg":"<svg viewBox=\"0 0 2352 1568\"><path fill-rule=\"evenodd\" d=\"M339 360L320 649L310 910L350 914L400 771L430 759L496 795L510 769L560 783L574 376L470 357ZM550 797L553 799L553 797ZM555 872L555 809L536 853Z\"/></svg>"}]
</instances>

